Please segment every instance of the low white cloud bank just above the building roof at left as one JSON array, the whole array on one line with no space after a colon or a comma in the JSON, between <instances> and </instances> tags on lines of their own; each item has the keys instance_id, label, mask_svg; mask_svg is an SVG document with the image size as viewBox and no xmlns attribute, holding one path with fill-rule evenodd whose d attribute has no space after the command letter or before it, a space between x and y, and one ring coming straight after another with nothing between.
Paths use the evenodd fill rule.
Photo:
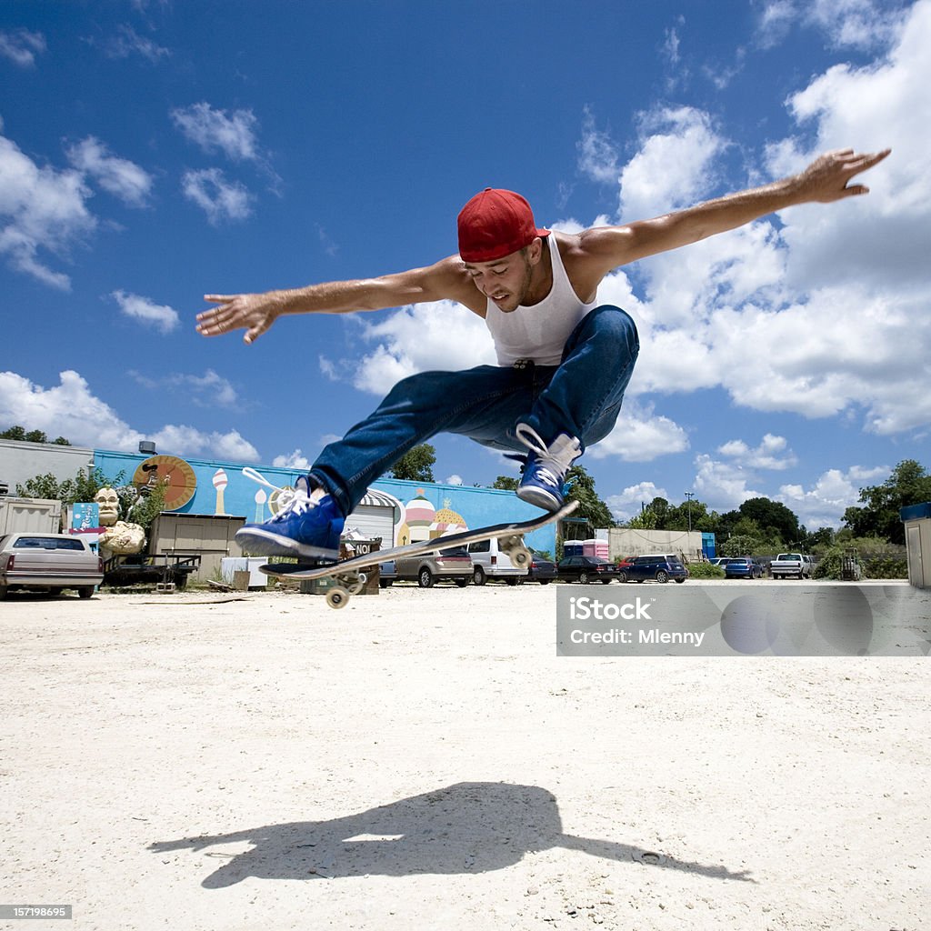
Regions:
<instances>
[{"instance_id":1,"label":"low white cloud bank just above the building roof at left","mask_svg":"<svg viewBox=\"0 0 931 931\"><path fill-rule=\"evenodd\" d=\"M141 439L154 439L175 455L213 455L258 462L259 454L236 430L204 433L191 426L164 425L145 434L130 427L110 405L93 395L76 371L62 371L60 384L46 388L13 371L0 372L0 423L28 424L75 446L136 452Z\"/></svg>"}]
</instances>

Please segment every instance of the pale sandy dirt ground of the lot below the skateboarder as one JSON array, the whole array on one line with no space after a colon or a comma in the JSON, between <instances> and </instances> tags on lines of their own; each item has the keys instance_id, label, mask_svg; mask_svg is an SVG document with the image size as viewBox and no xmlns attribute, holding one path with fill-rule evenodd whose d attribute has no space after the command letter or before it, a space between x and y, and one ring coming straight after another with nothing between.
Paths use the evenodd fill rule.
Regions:
<instances>
[{"instance_id":1,"label":"pale sandy dirt ground of the lot below the skateboarder","mask_svg":"<svg viewBox=\"0 0 931 931\"><path fill-rule=\"evenodd\" d=\"M0 902L74 908L2 926L931 927L928 658L560 658L553 586L0 638Z\"/></svg>"}]
</instances>

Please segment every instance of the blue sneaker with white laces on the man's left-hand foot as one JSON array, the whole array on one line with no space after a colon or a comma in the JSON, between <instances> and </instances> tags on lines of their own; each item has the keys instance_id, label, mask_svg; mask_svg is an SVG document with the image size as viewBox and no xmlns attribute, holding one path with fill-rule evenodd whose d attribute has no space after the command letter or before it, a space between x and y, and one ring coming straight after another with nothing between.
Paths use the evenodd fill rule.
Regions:
<instances>
[{"instance_id":1,"label":"blue sneaker with white laces on the man's left-hand foot","mask_svg":"<svg viewBox=\"0 0 931 931\"><path fill-rule=\"evenodd\" d=\"M338 560L343 514L325 489L311 490L303 476L295 485L294 496L275 517L241 527L236 532L236 543L260 556Z\"/></svg>"}]
</instances>

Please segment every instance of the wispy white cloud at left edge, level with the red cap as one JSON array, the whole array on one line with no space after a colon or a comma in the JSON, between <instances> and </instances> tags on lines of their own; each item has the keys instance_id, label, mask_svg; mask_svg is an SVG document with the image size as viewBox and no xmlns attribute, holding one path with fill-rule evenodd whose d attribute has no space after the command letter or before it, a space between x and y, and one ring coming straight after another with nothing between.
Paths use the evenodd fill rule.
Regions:
<instances>
[{"instance_id":1,"label":"wispy white cloud at left edge, level with the red cap","mask_svg":"<svg viewBox=\"0 0 931 931\"><path fill-rule=\"evenodd\" d=\"M90 191L80 171L40 168L15 142L0 136L0 255L17 271L53 288L71 280L42 259L66 257L97 226L87 207Z\"/></svg>"}]
</instances>

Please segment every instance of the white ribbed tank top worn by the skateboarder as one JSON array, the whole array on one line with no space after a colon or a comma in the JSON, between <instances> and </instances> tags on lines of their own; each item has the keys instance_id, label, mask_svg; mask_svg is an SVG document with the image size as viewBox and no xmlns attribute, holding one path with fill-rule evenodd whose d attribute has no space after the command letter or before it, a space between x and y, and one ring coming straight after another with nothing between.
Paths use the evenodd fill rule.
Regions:
<instances>
[{"instance_id":1,"label":"white ribbed tank top worn by the skateboarder","mask_svg":"<svg viewBox=\"0 0 931 931\"><path fill-rule=\"evenodd\" d=\"M583 304L562 266L556 236L546 236L553 265L553 287L533 307L522 304L510 314L498 310L491 298L485 322L492 332L498 365L512 366L518 359L532 359L537 365L559 365L562 349L570 334L597 301Z\"/></svg>"}]
</instances>

